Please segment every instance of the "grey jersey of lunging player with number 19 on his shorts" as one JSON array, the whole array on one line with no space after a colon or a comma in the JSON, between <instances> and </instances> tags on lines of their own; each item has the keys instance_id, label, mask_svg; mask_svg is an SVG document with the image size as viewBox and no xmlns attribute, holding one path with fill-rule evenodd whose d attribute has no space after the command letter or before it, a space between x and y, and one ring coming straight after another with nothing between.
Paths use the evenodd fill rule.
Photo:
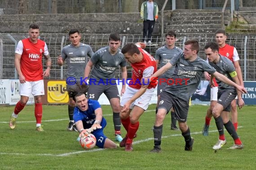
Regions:
<instances>
[{"instance_id":1,"label":"grey jersey of lunging player with number 19 on his shorts","mask_svg":"<svg viewBox=\"0 0 256 170\"><path fill-rule=\"evenodd\" d=\"M203 72L209 72L210 74L216 72L215 68L200 57L197 57L194 61L188 61L182 53L173 57L169 62L175 66L172 76L173 84L167 85L164 91L186 101L189 101L197 89Z\"/></svg>"}]
</instances>

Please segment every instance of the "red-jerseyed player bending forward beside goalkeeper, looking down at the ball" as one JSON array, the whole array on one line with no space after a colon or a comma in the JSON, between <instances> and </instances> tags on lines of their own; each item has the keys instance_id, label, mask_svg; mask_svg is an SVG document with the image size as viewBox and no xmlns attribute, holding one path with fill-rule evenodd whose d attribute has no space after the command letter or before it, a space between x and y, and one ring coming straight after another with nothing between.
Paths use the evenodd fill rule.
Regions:
<instances>
[{"instance_id":1,"label":"red-jerseyed player bending forward beside goalkeeper, looking down at the ball","mask_svg":"<svg viewBox=\"0 0 256 170\"><path fill-rule=\"evenodd\" d=\"M132 79L120 103L120 118L127 134L119 145L125 147L125 151L132 151L132 139L136 137L139 118L147 110L157 85L152 82L141 84L141 79L149 78L157 68L154 57L137 45L140 46L129 43L122 48L125 59L133 69Z\"/></svg>"}]
</instances>

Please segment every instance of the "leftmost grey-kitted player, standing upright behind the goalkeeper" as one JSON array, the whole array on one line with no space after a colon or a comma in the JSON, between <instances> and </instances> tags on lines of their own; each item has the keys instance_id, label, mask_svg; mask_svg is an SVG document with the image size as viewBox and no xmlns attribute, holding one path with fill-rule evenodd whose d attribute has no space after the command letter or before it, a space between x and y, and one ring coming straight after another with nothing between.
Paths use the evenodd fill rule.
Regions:
<instances>
[{"instance_id":1,"label":"leftmost grey-kitted player, standing upright behind the goalkeeper","mask_svg":"<svg viewBox=\"0 0 256 170\"><path fill-rule=\"evenodd\" d=\"M67 130L77 131L73 119L75 101L72 98L74 93L86 93L88 90L88 85L81 84L80 78L84 76L88 57L93 56L93 50L89 45L80 43L81 35L79 30L72 29L68 34L71 44L62 49L62 54L57 59L57 64L62 66L65 60L67 62L66 86L69 95L68 115L70 119Z\"/></svg>"}]
</instances>

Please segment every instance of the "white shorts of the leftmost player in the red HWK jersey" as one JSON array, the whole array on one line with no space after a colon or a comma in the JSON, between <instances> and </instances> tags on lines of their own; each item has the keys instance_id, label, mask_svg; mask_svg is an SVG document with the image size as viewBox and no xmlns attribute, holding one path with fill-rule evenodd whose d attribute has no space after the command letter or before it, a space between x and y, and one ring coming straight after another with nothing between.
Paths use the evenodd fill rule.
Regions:
<instances>
[{"instance_id":1,"label":"white shorts of the leftmost player in the red HWK jersey","mask_svg":"<svg viewBox=\"0 0 256 170\"><path fill-rule=\"evenodd\" d=\"M40 81L26 81L26 83L20 84L20 95L29 97L44 95L44 80Z\"/></svg>"}]
</instances>

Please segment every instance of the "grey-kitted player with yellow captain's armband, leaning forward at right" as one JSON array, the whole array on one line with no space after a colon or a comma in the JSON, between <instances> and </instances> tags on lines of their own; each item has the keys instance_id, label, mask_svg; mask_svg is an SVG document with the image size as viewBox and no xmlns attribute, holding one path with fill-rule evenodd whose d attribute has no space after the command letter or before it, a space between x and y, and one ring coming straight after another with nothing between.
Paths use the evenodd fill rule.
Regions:
<instances>
[{"instance_id":1,"label":"grey-kitted player with yellow captain's armband, leaning forward at right","mask_svg":"<svg viewBox=\"0 0 256 170\"><path fill-rule=\"evenodd\" d=\"M219 45L215 42L209 42L206 44L204 49L209 64L214 67L217 72L226 76L231 81L234 81L237 85L240 85L234 64L230 59L219 54ZM211 80L212 79L213 77L211 76ZM212 115L215 119L219 132L219 139L212 149L221 149L222 146L226 144L223 124L227 132L229 132L230 136L234 139L234 145L229 149L243 149L243 143L239 139L233 123L229 119L231 102L236 98L236 96L238 96L239 108L244 106L241 93L231 85L225 84L217 79L216 82L218 83L218 101L212 109Z\"/></svg>"}]
</instances>

